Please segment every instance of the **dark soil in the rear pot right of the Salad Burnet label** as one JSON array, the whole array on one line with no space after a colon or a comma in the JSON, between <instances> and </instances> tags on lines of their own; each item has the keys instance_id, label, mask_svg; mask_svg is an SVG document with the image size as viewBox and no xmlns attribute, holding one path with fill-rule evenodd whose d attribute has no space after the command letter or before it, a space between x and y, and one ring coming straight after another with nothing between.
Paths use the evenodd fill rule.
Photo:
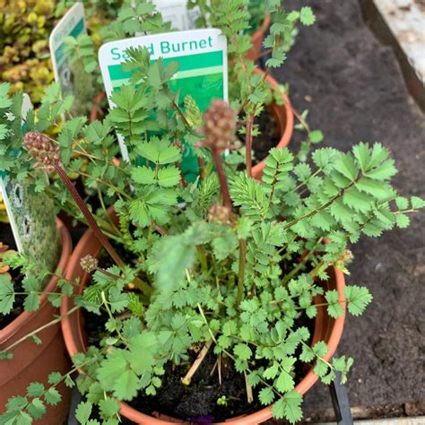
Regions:
<instances>
[{"instance_id":1,"label":"dark soil in the rear pot right of the Salad Burnet label","mask_svg":"<svg viewBox=\"0 0 425 425\"><path fill-rule=\"evenodd\" d=\"M279 143L281 134L272 112L267 108L261 112L259 117L256 117L254 124L258 126L260 132L252 142L253 164L256 165L264 160L269 151ZM239 134L239 140L245 144L245 134Z\"/></svg>"}]
</instances>

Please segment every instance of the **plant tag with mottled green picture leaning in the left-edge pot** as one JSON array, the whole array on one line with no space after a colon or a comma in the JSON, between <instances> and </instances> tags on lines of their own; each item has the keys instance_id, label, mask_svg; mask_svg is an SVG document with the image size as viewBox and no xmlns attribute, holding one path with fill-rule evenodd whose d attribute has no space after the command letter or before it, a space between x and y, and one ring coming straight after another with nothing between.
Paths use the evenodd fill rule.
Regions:
<instances>
[{"instance_id":1,"label":"plant tag with mottled green picture leaning in the left-edge pot","mask_svg":"<svg viewBox=\"0 0 425 425\"><path fill-rule=\"evenodd\" d=\"M23 118L27 117L30 109L30 97L24 94L22 133L25 133ZM41 170L36 172L46 175ZM6 172L0 172L0 191L18 251L47 265L48 270L53 273L61 253L54 204L48 195L30 193L29 186L26 180L15 181Z\"/></svg>"}]
</instances>

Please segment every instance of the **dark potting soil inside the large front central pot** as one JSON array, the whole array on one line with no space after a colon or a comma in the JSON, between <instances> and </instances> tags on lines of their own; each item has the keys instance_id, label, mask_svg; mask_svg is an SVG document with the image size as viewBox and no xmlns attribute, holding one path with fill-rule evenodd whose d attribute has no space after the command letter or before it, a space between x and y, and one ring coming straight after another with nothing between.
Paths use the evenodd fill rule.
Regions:
<instances>
[{"instance_id":1,"label":"dark potting soil inside the large front central pot","mask_svg":"<svg viewBox=\"0 0 425 425\"><path fill-rule=\"evenodd\" d=\"M89 344L98 344L104 334L105 322L108 315L102 313L101 316L83 312L85 319L85 331ZM313 334L314 321L308 317L299 317L298 326L307 326ZM299 353L298 353L299 354ZM259 411L264 406L259 403L257 391L254 389L253 403L247 403L247 392L245 378L243 374L237 372L230 359L221 360L221 384L217 366L214 369L217 356L212 351L205 357L202 366L196 371L192 382L185 386L181 378L186 375L187 370L195 361L197 351L193 351L190 361L174 366L168 363L165 368L165 375L162 386L155 396L140 393L129 404L139 412L153 416L156 412L170 417L191 421L194 423L212 423L212 421L224 421L231 417ZM214 371L212 372L212 369ZM295 381L307 374L303 363L297 363L295 369ZM217 405L217 400L225 395L226 406ZM133 423L122 419L124 424Z\"/></svg>"}]
</instances>

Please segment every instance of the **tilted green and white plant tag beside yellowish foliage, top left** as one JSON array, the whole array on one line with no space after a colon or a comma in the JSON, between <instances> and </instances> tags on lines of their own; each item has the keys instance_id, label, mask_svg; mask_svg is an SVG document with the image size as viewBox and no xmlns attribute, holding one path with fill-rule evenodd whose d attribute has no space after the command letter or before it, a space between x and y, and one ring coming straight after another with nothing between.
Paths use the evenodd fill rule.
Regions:
<instances>
[{"instance_id":1,"label":"tilted green and white plant tag beside yellowish foliage, top left","mask_svg":"<svg viewBox=\"0 0 425 425\"><path fill-rule=\"evenodd\" d=\"M74 95L74 74L69 55L65 53L64 39L76 39L81 34L87 34L85 12L82 3L76 3L57 23L48 39L55 80L60 82L63 96Z\"/></svg>"}]
</instances>

